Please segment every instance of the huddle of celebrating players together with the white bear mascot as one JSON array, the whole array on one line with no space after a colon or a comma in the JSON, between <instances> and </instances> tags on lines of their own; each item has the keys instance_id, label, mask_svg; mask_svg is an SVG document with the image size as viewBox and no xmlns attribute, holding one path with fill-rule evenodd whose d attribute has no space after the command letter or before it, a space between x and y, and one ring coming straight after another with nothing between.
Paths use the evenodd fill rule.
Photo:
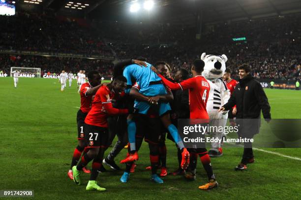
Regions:
<instances>
[{"instance_id":1,"label":"huddle of celebrating players together with the white bear mascot","mask_svg":"<svg viewBox=\"0 0 301 200\"><path fill-rule=\"evenodd\" d=\"M147 169L151 171L151 180L163 183L161 177L167 175L167 137L178 149L178 170L171 175L184 175L187 179L195 180L199 157L209 179L199 189L217 187L211 157L223 154L221 144L211 144L212 149L209 151L206 148L185 148L177 129L178 119L201 119L202 124L206 125L214 123L210 121L211 118L228 118L228 111L221 110L220 107L227 103L237 82L231 79L227 70L224 70L223 78L209 80L204 77L204 60L212 60L213 68L219 70L224 67L221 63L226 62L227 58L224 55L202 56L203 59L193 62L191 78L187 70L181 69L172 76L171 68L166 62L151 65L143 59L128 59L117 63L114 66L113 80L108 84L100 84L101 76L97 71L88 73L88 82L82 81L85 72L83 75L79 73L81 107L77 113L78 146L74 150L68 171L70 179L80 185L81 172L90 173L86 190L105 191L96 182L99 172L105 170L102 165L120 170L114 159L128 145L127 155L120 161L125 164L120 182L126 183L130 173L135 171L138 152L145 140L150 150L150 166ZM230 122L235 123L233 114L236 108L231 106L229 109L229 118L232 119ZM116 135L117 143L105 156L105 151ZM220 138L225 136L218 132L215 135ZM86 166L90 162L92 168L88 170ZM237 170L241 170L239 166Z\"/></svg>"}]
</instances>

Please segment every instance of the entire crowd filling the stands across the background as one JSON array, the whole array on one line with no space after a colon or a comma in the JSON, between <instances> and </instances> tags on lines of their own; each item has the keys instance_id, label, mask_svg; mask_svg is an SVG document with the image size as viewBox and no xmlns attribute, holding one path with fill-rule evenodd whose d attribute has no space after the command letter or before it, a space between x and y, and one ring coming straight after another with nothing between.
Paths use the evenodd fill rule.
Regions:
<instances>
[{"instance_id":1,"label":"entire crowd filling the stands across the background","mask_svg":"<svg viewBox=\"0 0 301 200\"><path fill-rule=\"evenodd\" d=\"M150 63L168 62L174 71L190 69L202 52L226 54L226 66L237 77L242 63L251 66L258 78L298 78L301 63L301 14L270 19L205 25L202 36L185 25L91 21L79 25L72 20L24 14L0 16L0 50L71 52L85 55L114 55L117 59L146 57ZM233 38L245 40L233 41ZM37 67L59 73L62 69L99 70L112 75L112 61L86 58L19 55L12 60L0 54L0 69L11 66Z\"/></svg>"}]
</instances>

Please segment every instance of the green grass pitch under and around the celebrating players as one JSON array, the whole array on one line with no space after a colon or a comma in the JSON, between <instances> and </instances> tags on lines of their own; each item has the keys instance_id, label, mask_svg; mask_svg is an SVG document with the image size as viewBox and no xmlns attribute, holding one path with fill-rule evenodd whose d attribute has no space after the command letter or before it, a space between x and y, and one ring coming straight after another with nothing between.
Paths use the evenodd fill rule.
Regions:
<instances>
[{"instance_id":1,"label":"green grass pitch under and around the celebrating players","mask_svg":"<svg viewBox=\"0 0 301 200\"><path fill-rule=\"evenodd\" d=\"M272 118L301 118L301 91L265 91ZM196 181L168 175L163 178L164 184L151 182L150 172L145 170L149 165L145 144L128 183L119 181L122 172L108 170L98 176L100 186L107 191L87 192L89 175L82 175L81 186L67 177L77 145L76 113L80 98L76 82L71 88L67 83L61 92L58 79L19 78L15 89L11 77L0 78L0 100L0 190L31 189L36 200L301 199L300 160L254 150L255 163L245 172L235 172L242 149L225 148L222 157L211 159L219 187L201 191L198 186L207 177L200 162ZM301 158L301 149L265 150ZM126 150L122 150L116 161L125 154ZM171 172L177 168L177 158L175 145L168 140L167 154Z\"/></svg>"}]
</instances>

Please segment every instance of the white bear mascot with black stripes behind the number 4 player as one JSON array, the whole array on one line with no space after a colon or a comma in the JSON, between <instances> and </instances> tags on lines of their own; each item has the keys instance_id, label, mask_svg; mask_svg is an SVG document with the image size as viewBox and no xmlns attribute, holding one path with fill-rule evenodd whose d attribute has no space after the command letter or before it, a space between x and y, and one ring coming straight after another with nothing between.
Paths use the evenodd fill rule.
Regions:
<instances>
[{"instance_id":1,"label":"white bear mascot with black stripes behind the number 4 player","mask_svg":"<svg viewBox=\"0 0 301 200\"><path fill-rule=\"evenodd\" d=\"M218 112L220 106L228 102L230 92L226 83L223 81L222 76L226 70L226 62L228 60L225 54L208 54L202 53L201 59L205 62L204 71L202 75L210 80L210 92L207 101L207 112L210 118L211 126L222 126L227 124L228 111ZM211 132L214 138L222 139L223 132ZM208 154L211 157L221 156L222 149L219 142L211 143L212 149Z\"/></svg>"}]
</instances>

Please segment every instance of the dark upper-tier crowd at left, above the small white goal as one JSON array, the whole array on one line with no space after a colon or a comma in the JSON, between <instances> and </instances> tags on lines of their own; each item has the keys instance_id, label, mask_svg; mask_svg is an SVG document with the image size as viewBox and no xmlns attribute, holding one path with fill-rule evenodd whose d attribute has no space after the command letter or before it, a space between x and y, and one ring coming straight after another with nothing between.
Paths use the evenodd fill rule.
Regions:
<instances>
[{"instance_id":1,"label":"dark upper-tier crowd at left, above the small white goal","mask_svg":"<svg viewBox=\"0 0 301 200\"><path fill-rule=\"evenodd\" d=\"M112 55L93 27L46 15L0 15L0 49Z\"/></svg>"}]
</instances>

